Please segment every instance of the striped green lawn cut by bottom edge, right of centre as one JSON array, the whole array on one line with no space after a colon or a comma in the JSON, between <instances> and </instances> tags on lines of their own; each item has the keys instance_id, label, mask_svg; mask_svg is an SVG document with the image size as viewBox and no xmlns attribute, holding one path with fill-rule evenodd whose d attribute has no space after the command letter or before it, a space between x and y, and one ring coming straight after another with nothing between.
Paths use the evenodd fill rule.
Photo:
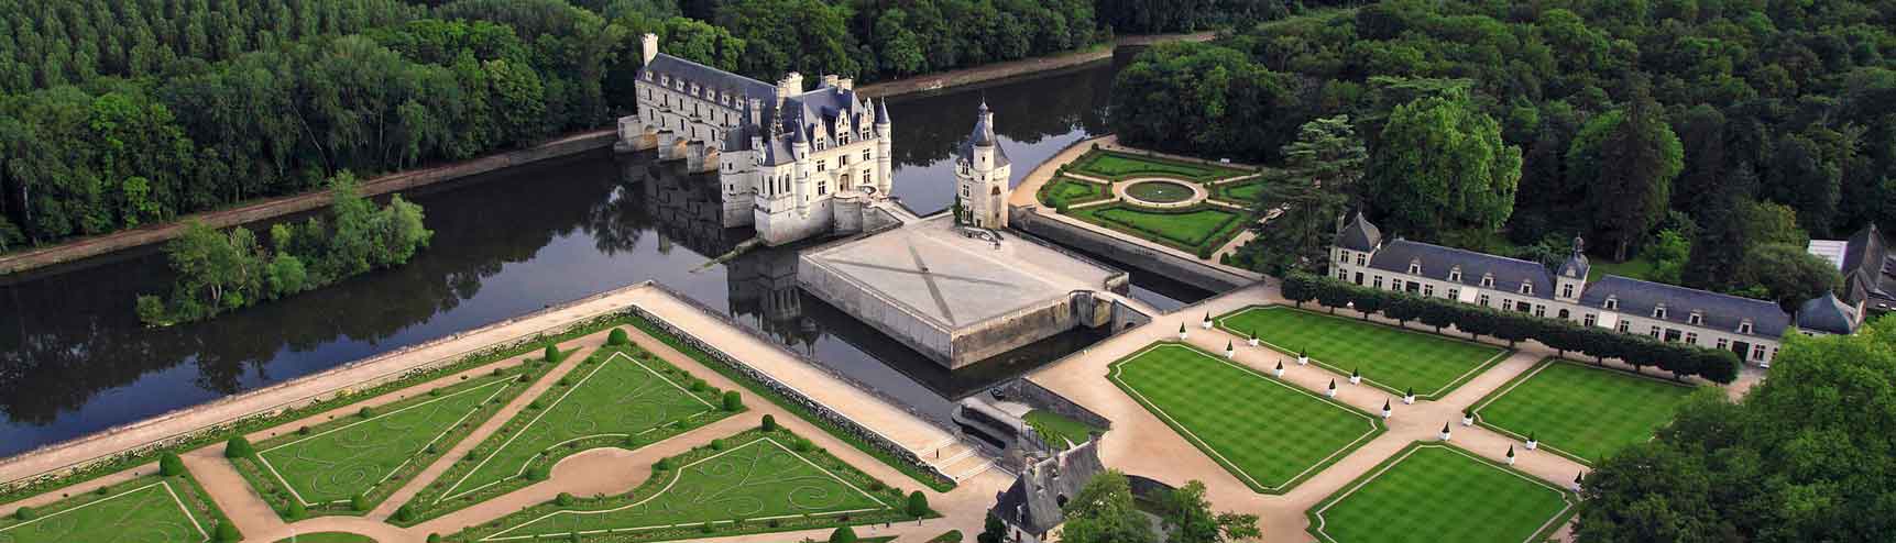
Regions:
<instances>
[{"instance_id":1,"label":"striped green lawn cut by bottom edge, right of centre","mask_svg":"<svg viewBox=\"0 0 1896 543\"><path fill-rule=\"evenodd\" d=\"M1577 498L1439 443L1414 443L1318 503L1310 535L1331 543L1543 541Z\"/></svg>"}]
</instances>

